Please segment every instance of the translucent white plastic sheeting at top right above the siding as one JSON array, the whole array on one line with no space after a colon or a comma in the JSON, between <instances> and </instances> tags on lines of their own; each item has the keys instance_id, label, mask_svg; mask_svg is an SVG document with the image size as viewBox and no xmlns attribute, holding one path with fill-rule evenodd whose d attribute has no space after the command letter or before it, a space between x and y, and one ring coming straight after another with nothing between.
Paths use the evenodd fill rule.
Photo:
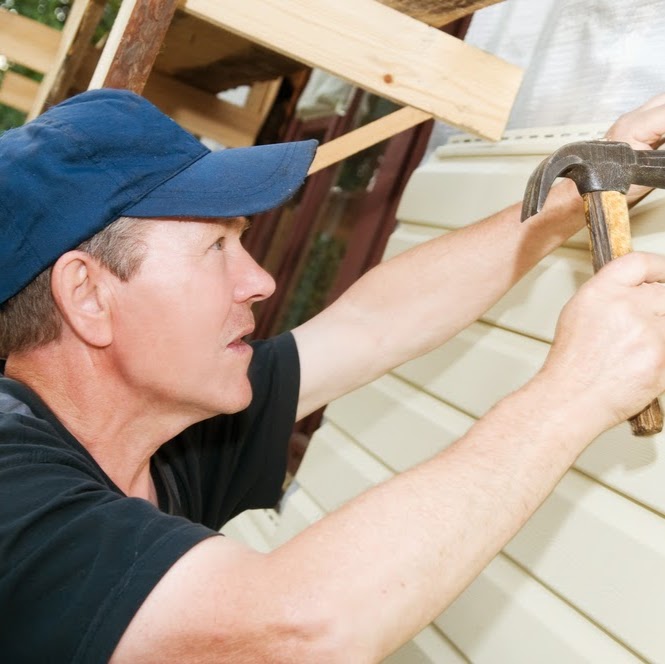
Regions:
<instances>
[{"instance_id":1,"label":"translucent white plastic sheeting at top right above the siding","mask_svg":"<svg viewBox=\"0 0 665 664\"><path fill-rule=\"evenodd\" d=\"M466 41L525 69L509 129L609 125L665 92L662 0L504 0ZM453 133L437 123L428 155Z\"/></svg>"}]
</instances>

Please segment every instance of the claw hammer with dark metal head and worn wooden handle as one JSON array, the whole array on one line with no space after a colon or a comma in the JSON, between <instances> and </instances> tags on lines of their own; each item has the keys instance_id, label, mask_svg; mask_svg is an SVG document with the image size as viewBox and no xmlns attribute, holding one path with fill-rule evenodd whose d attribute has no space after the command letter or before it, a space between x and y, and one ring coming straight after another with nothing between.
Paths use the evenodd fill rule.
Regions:
<instances>
[{"instance_id":1,"label":"claw hammer with dark metal head and worn wooden handle","mask_svg":"<svg viewBox=\"0 0 665 664\"><path fill-rule=\"evenodd\" d=\"M612 259L632 251L626 192L631 184L665 187L665 153L604 140L564 145L529 178L522 221L540 212L558 177L570 178L584 200L593 269L598 272ZM661 431L663 414L658 399L629 421L635 436Z\"/></svg>"}]
</instances>

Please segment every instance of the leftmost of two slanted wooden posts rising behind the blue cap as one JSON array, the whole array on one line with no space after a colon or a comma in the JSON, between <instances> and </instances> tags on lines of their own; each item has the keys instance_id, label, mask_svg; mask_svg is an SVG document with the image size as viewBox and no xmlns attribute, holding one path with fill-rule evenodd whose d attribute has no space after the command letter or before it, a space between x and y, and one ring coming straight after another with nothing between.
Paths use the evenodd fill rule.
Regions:
<instances>
[{"instance_id":1,"label":"leftmost of two slanted wooden posts rising behind the blue cap","mask_svg":"<svg viewBox=\"0 0 665 664\"><path fill-rule=\"evenodd\" d=\"M39 86L37 97L28 113L28 120L36 118L48 106L57 104L67 96L102 19L105 4L104 0L75 0L72 4L58 51Z\"/></svg>"}]
</instances>

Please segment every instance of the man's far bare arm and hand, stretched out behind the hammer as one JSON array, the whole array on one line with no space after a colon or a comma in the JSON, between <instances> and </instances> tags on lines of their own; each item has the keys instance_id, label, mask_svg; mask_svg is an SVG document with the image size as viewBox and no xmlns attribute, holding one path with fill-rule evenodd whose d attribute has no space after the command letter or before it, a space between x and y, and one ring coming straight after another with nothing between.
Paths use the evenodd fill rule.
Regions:
<instances>
[{"instance_id":1,"label":"man's far bare arm and hand, stretched out behind the hammer","mask_svg":"<svg viewBox=\"0 0 665 664\"><path fill-rule=\"evenodd\" d=\"M659 95L619 118L607 136L648 149L663 133L665 95ZM645 191L633 188L629 200ZM298 417L453 337L584 226L581 198L569 181L552 189L528 223L520 223L520 210L516 203L378 265L296 328Z\"/></svg>"}]
</instances>

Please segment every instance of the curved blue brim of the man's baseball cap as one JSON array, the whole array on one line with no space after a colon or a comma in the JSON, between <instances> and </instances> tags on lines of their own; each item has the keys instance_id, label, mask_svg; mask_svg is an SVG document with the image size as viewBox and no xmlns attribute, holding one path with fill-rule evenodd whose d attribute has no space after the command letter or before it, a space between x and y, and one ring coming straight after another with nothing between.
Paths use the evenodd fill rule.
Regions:
<instances>
[{"instance_id":1,"label":"curved blue brim of the man's baseball cap","mask_svg":"<svg viewBox=\"0 0 665 664\"><path fill-rule=\"evenodd\" d=\"M285 203L300 188L317 141L210 152L123 210L135 217L243 217Z\"/></svg>"}]
</instances>

